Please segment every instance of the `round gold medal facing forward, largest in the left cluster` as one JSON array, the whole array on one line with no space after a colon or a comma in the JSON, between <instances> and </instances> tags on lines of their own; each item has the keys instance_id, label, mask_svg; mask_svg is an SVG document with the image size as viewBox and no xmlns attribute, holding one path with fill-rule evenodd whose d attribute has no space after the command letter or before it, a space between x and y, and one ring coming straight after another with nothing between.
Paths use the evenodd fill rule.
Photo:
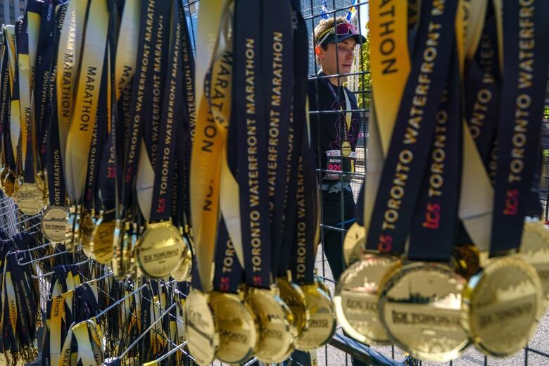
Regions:
<instances>
[{"instance_id":1,"label":"round gold medal facing forward, largest in the left cluster","mask_svg":"<svg viewBox=\"0 0 549 366\"><path fill-rule=\"evenodd\" d=\"M147 225L135 246L137 265L147 277L164 278L179 266L185 249L183 238L171 220L153 222Z\"/></svg>"}]
</instances>

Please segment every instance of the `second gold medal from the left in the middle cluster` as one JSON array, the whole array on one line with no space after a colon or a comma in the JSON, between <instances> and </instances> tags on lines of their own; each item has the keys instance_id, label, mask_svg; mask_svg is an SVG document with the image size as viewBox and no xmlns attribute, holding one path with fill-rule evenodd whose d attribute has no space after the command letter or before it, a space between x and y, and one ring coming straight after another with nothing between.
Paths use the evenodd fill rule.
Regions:
<instances>
[{"instance_id":1,"label":"second gold medal from the left in the middle cluster","mask_svg":"<svg viewBox=\"0 0 549 366\"><path fill-rule=\"evenodd\" d=\"M248 360L259 339L251 309L238 295L216 291L210 294L210 305L219 329L217 358L231 364Z\"/></svg>"}]
</instances>

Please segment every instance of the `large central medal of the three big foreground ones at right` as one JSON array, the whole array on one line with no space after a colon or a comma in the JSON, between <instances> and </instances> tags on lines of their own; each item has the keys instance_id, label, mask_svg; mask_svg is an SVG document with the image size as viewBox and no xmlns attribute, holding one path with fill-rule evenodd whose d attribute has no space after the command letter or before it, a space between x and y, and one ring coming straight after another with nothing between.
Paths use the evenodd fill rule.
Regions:
<instances>
[{"instance_id":1,"label":"large central medal of the three big foreground ones at right","mask_svg":"<svg viewBox=\"0 0 549 366\"><path fill-rule=\"evenodd\" d=\"M446 362L469 345L460 324L466 280L447 265L412 263L385 282L379 316L400 348L421 360Z\"/></svg>"}]
</instances>

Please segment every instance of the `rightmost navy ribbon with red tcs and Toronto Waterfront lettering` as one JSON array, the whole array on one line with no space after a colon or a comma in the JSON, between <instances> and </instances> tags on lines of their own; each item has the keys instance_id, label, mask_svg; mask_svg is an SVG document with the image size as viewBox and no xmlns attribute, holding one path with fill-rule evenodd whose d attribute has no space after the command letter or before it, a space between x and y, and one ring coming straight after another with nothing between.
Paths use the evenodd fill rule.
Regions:
<instances>
[{"instance_id":1,"label":"rightmost navy ribbon with red tcs and Toronto Waterfront lettering","mask_svg":"<svg viewBox=\"0 0 549 366\"><path fill-rule=\"evenodd\" d=\"M498 125L498 168L494 184L491 255L519 247L539 151L549 58L549 4L531 8L505 1L503 61ZM535 25L535 27L534 27ZM520 35L519 35L520 34ZM526 34L526 35L524 35ZM534 44L545 45L534 48Z\"/></svg>"}]
</instances>

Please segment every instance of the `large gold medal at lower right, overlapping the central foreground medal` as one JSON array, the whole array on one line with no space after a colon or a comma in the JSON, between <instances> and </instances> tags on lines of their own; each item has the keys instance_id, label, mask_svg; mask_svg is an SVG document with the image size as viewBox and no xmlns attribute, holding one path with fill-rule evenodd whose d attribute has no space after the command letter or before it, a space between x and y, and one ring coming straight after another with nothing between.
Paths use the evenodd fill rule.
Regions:
<instances>
[{"instance_id":1,"label":"large gold medal at lower right, overlapping the central foreground medal","mask_svg":"<svg viewBox=\"0 0 549 366\"><path fill-rule=\"evenodd\" d=\"M483 353L512 355L536 330L542 292L536 270L521 255L491 259L463 291L463 327Z\"/></svg>"}]
</instances>

